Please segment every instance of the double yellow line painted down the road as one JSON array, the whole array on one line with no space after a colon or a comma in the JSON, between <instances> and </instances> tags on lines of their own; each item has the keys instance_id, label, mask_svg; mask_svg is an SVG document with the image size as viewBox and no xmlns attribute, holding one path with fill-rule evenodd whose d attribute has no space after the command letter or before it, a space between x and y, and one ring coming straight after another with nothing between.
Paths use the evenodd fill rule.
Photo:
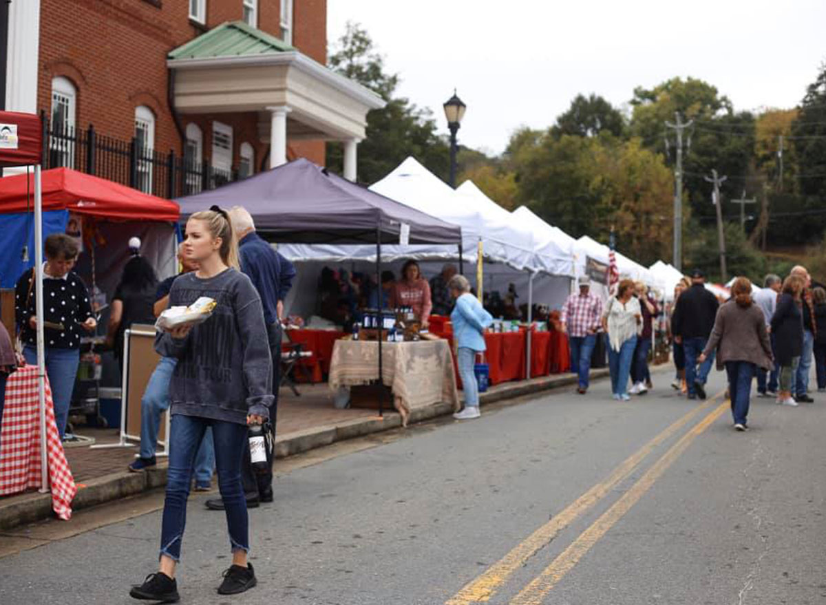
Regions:
<instances>
[{"instance_id":1,"label":"double yellow line painted down the road","mask_svg":"<svg viewBox=\"0 0 826 605\"><path fill-rule=\"evenodd\" d=\"M594 485L586 493L569 504L562 512L553 517L550 521L539 527L528 536L525 541L516 545L513 550L496 561L485 572L476 579L466 584L458 593L453 595L445 605L474 605L475 603L486 603L496 594L496 591L510 578L517 569L520 569L539 550L548 545L566 526L570 525L577 517L587 512L602 498L611 492L613 488L637 469L638 465L650 454L657 445L662 444L669 437L673 436L683 426L686 426L700 412L708 409L714 404L714 400L719 398L724 392L721 391L713 398L694 407L686 415L673 422L672 425L648 441L643 447L630 455L624 462L619 464L611 474L601 483ZM623 515L629 511L635 503L643 497L654 482L659 479L665 470L671 466L683 451L686 450L691 441L696 436L705 431L711 423L719 418L729 407L729 402L720 403L701 422L695 425L691 431L682 436L676 444L667 450L662 457L655 462L643 476L623 494L621 498L611 506L599 519L594 522L586 531L568 546L564 552L543 570L539 576L530 584L523 588L516 597L510 601L510 605L539 605L542 599L558 584L567 572L577 565L591 546L596 544L605 532L610 529L615 522L619 521Z\"/></svg>"}]
</instances>

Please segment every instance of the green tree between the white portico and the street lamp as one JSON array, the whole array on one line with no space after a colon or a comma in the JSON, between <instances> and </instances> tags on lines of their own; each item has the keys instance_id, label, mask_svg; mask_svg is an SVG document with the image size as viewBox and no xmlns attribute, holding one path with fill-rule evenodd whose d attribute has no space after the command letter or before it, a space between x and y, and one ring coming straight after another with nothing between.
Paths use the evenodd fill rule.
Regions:
<instances>
[{"instance_id":1,"label":"green tree between the white portico and the street lamp","mask_svg":"<svg viewBox=\"0 0 826 605\"><path fill-rule=\"evenodd\" d=\"M365 139L358 145L358 181L375 183L396 168L408 155L447 179L450 169L449 145L436 133L429 110L396 96L398 74L388 74L384 58L377 52L368 32L348 22L344 35L328 59L330 69L370 88L387 106L368 113ZM344 150L339 143L327 145L326 164L341 172Z\"/></svg>"}]
</instances>

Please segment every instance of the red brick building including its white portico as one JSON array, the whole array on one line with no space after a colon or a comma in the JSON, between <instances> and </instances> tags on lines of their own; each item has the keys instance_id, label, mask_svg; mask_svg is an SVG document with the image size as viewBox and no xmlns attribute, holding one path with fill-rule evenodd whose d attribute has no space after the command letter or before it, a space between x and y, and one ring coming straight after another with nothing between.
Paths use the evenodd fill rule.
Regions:
<instances>
[{"instance_id":1,"label":"red brick building including its white portico","mask_svg":"<svg viewBox=\"0 0 826 605\"><path fill-rule=\"evenodd\" d=\"M352 178L366 114L383 104L324 67L326 0L12 0L10 36L7 108L44 112L57 132L135 137L156 161L134 184L155 193L170 152L243 177L299 156L324 164L325 141L344 141ZM14 89L31 88L33 50L36 107ZM53 138L49 163L118 179L100 155L83 164L82 142Z\"/></svg>"}]
</instances>

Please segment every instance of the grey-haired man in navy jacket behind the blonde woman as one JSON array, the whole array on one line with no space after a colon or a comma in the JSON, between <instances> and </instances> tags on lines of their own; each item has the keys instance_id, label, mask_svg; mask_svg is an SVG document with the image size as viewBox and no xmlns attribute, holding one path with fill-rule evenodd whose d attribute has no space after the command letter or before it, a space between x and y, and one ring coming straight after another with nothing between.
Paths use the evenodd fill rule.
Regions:
<instances>
[{"instance_id":1,"label":"grey-haired man in navy jacket behind the blonde woman","mask_svg":"<svg viewBox=\"0 0 826 605\"><path fill-rule=\"evenodd\" d=\"M263 306L263 320L267 324L269 348L273 356L273 407L270 410L272 439L275 441L275 422L278 409L278 386L281 383L281 320L284 312L284 298L292 288L296 268L278 254L255 232L253 217L244 207L235 206L230 212L230 220L235 236L238 237L238 253L241 271L249 276L258 290ZM272 448L267 449L268 471L256 474L249 459L249 448L244 455L244 493L248 507L257 507L261 502L273 502L273 460ZM207 500L207 507L223 509L221 498Z\"/></svg>"}]
</instances>

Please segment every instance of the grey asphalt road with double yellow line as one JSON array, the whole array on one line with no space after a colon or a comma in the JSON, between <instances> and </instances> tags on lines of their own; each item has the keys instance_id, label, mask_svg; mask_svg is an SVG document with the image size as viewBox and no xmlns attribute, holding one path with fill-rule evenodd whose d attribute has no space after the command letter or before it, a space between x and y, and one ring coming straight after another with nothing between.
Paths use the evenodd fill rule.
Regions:
<instances>
[{"instance_id":1,"label":"grey asphalt road with double yellow line","mask_svg":"<svg viewBox=\"0 0 826 605\"><path fill-rule=\"evenodd\" d=\"M250 511L259 586L239 597L215 592L224 517L192 498L182 602L826 603L826 396L753 398L735 433L722 374L705 403L654 379L629 403L602 380L282 463L276 502ZM112 522L125 508L0 559L0 603L136 603L160 513Z\"/></svg>"}]
</instances>

